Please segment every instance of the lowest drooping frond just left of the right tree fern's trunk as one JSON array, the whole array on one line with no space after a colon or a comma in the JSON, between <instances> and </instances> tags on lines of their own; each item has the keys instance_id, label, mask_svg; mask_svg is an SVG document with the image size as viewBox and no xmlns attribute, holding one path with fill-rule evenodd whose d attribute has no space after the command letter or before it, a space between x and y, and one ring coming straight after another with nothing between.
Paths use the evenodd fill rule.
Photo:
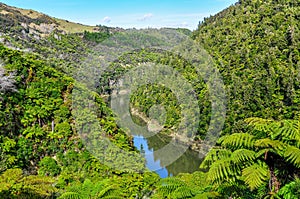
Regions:
<instances>
[{"instance_id":1,"label":"lowest drooping frond just left of the right tree fern's trunk","mask_svg":"<svg viewBox=\"0 0 300 199\"><path fill-rule=\"evenodd\" d=\"M262 186L270 178L267 165L264 163L255 163L244 168L242 176L251 190Z\"/></svg>"}]
</instances>

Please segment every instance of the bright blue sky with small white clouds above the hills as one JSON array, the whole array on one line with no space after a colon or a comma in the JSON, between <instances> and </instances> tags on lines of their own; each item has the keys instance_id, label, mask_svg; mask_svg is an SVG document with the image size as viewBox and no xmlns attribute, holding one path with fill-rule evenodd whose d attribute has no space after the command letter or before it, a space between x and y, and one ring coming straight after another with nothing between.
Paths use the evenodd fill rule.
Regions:
<instances>
[{"instance_id":1,"label":"bright blue sky with small white clouds above the hills","mask_svg":"<svg viewBox=\"0 0 300 199\"><path fill-rule=\"evenodd\" d=\"M204 17L237 0L1 0L87 25L123 28L182 27L194 30Z\"/></svg>"}]
</instances>

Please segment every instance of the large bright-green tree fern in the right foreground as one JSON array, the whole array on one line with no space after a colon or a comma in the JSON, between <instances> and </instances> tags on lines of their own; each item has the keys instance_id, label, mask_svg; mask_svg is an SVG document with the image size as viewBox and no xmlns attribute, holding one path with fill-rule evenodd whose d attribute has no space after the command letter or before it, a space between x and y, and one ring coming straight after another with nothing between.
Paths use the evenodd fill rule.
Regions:
<instances>
[{"instance_id":1,"label":"large bright-green tree fern in the right foreground","mask_svg":"<svg viewBox=\"0 0 300 199\"><path fill-rule=\"evenodd\" d=\"M200 167L209 168L208 179L217 184L239 179L253 190L269 181L270 191L277 192L276 166L300 168L300 122L260 118L246 122L250 132L220 138L221 147L211 150Z\"/></svg>"}]
</instances>

